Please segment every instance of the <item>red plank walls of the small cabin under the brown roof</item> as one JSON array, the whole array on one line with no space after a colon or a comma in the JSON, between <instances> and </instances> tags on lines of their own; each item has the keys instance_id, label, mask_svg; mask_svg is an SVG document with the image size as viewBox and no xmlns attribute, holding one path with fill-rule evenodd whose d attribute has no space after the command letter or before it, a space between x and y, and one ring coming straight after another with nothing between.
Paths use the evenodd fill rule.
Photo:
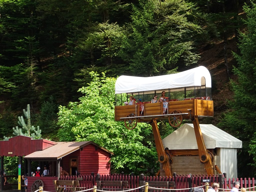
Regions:
<instances>
[{"instance_id":1,"label":"red plank walls of the small cabin under the brown roof","mask_svg":"<svg viewBox=\"0 0 256 192\"><path fill-rule=\"evenodd\" d=\"M95 148L93 144L83 147L82 151L77 150L62 158L62 168L69 173L70 158L78 158L78 172L80 174L110 174L110 153L101 148Z\"/></svg>"}]
</instances>

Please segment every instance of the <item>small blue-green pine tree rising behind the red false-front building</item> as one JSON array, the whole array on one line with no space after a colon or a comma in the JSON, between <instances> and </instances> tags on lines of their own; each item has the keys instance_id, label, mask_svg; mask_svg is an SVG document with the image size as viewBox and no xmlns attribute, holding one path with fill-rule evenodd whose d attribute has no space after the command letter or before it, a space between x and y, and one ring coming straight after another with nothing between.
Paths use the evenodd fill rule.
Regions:
<instances>
[{"instance_id":1,"label":"small blue-green pine tree rising behind the red false-front building","mask_svg":"<svg viewBox=\"0 0 256 192\"><path fill-rule=\"evenodd\" d=\"M30 105L27 105L27 111L25 109L23 109L23 113L25 115L25 118L27 119L27 123L25 122L23 116L18 116L18 124L20 126L22 126L22 128L19 128L18 126L16 126L15 128L13 127L13 134L15 136L17 135L25 135L25 136L29 136L29 137L33 137L36 139L40 139L41 138L41 130L39 129L39 126L34 127L33 125L31 125L31 119L30 119ZM34 133L32 133L34 132ZM8 140L10 137L5 137L4 136L4 140Z\"/></svg>"}]
</instances>

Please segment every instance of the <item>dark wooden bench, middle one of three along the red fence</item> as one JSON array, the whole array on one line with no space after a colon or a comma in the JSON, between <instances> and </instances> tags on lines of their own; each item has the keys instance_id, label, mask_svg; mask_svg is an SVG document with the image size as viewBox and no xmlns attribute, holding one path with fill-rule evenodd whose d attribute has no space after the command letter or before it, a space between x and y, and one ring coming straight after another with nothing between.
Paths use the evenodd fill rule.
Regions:
<instances>
[{"instance_id":1,"label":"dark wooden bench, middle one of three along the red fence","mask_svg":"<svg viewBox=\"0 0 256 192\"><path fill-rule=\"evenodd\" d=\"M96 181L100 190L122 191L128 187L128 181Z\"/></svg>"}]
</instances>

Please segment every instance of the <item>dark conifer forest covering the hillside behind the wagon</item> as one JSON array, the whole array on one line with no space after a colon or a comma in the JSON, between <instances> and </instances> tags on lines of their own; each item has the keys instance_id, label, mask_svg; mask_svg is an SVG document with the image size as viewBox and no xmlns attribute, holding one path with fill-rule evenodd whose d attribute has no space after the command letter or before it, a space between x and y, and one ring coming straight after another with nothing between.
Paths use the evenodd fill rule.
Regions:
<instances>
[{"instance_id":1,"label":"dark conifer forest covering the hillside behind the wagon","mask_svg":"<svg viewBox=\"0 0 256 192\"><path fill-rule=\"evenodd\" d=\"M82 87L98 82L97 74L148 77L184 71L197 65L203 57L202 47L214 49L212 42L219 41L222 68L227 72L223 78L234 77L228 82L234 97L215 109L219 115L214 122L243 141L238 171L248 177L242 167L250 166L248 174L253 176L255 9L254 1L245 0L0 0L0 137L13 136L12 128L18 126L18 116L29 104L32 124L40 127L43 138L97 143L90 133L81 133L75 120L61 119L76 102L82 102L81 97L88 94ZM230 38L236 42L233 50L227 49ZM227 55L231 51L234 60L230 64ZM97 96L93 90L89 92ZM165 122L160 127L163 137L173 131ZM143 125L131 136L141 137L138 157L130 154L138 164L144 163L138 173L157 169L139 158L145 147L148 158L155 155L150 133ZM142 135L148 135L147 139ZM116 145L111 146L113 150ZM136 163L122 161L126 168L113 158L116 171L136 169Z\"/></svg>"}]
</instances>

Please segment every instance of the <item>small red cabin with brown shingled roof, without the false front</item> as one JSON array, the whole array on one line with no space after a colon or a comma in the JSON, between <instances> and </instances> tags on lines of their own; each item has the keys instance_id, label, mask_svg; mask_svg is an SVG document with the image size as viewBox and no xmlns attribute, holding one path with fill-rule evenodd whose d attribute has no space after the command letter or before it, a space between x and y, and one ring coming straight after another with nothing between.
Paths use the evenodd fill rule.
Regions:
<instances>
[{"instance_id":1,"label":"small red cabin with brown shingled roof, without the false front","mask_svg":"<svg viewBox=\"0 0 256 192\"><path fill-rule=\"evenodd\" d=\"M112 152L92 141L57 142L45 150L36 151L24 157L28 162L47 162L50 175L60 177L60 166L70 175L110 174ZM43 166L43 165L42 165ZM42 167L41 167L42 168Z\"/></svg>"}]
</instances>

